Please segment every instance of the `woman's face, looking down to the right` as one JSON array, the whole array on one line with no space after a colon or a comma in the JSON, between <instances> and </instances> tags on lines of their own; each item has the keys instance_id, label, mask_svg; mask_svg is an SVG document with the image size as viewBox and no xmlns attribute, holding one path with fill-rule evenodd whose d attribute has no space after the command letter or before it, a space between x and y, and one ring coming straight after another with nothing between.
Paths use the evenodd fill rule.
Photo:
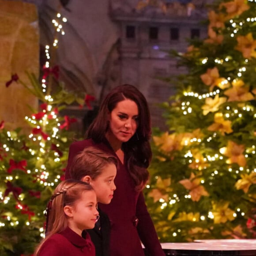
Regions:
<instances>
[{"instance_id":1,"label":"woman's face, looking down to the right","mask_svg":"<svg viewBox=\"0 0 256 256\"><path fill-rule=\"evenodd\" d=\"M125 99L109 113L109 136L123 143L135 134L138 128L139 110L137 104Z\"/></svg>"}]
</instances>

